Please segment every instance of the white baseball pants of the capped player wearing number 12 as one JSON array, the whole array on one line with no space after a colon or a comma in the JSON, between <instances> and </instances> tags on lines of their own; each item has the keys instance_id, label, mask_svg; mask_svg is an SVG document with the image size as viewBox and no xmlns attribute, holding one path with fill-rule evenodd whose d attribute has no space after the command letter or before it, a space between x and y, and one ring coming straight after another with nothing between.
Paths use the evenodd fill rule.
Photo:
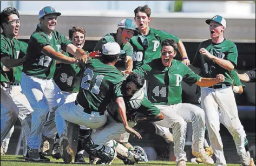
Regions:
<instances>
[{"instance_id":1,"label":"white baseball pants of the capped player wearing number 12","mask_svg":"<svg viewBox=\"0 0 256 166\"><path fill-rule=\"evenodd\" d=\"M65 98L53 79L42 79L22 73L21 87L34 109L28 146L38 149L48 111L54 111L63 105Z\"/></svg>"}]
</instances>

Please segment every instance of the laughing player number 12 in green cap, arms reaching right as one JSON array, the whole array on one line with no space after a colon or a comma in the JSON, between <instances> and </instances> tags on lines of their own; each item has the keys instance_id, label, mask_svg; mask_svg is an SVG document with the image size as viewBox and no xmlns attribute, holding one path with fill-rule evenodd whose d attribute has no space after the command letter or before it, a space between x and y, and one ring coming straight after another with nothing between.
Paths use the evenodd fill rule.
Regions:
<instances>
[{"instance_id":1,"label":"laughing player number 12 in green cap, arms reaching right","mask_svg":"<svg viewBox=\"0 0 256 166\"><path fill-rule=\"evenodd\" d=\"M53 80L56 60L68 64L75 64L78 61L76 58L64 56L59 51L65 50L81 60L84 60L82 56L86 56L86 52L78 49L63 34L55 31L57 17L60 15L60 12L56 12L50 6L40 10L41 27L31 35L23 63L21 87L34 109L26 160L41 161L38 148L47 113L49 110L55 112L65 101L60 88Z\"/></svg>"}]
</instances>

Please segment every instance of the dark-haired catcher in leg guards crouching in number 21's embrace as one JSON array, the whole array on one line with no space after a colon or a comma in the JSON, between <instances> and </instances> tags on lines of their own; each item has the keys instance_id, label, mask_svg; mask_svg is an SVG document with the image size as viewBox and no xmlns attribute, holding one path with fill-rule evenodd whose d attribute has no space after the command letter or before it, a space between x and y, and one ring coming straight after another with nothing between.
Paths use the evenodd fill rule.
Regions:
<instances>
[{"instance_id":1,"label":"dark-haired catcher in leg guards crouching in number 21's embrace","mask_svg":"<svg viewBox=\"0 0 256 166\"><path fill-rule=\"evenodd\" d=\"M154 122L163 119L160 110L145 98L142 89L144 83L145 79L141 74L131 73L122 84L123 98L127 110L127 120L129 120L128 123L130 123L131 127L134 127L136 123L140 121ZM118 113L118 106L114 100L108 105L108 113L106 126L84 139L84 148L90 152L89 149L91 146L104 144L105 146L115 148L117 157L123 160L125 164L138 162L140 156L133 151L128 151L122 144L115 141L119 140L120 136L125 133L126 130L122 125L122 119ZM100 161L98 161L97 164L101 164Z\"/></svg>"}]
</instances>

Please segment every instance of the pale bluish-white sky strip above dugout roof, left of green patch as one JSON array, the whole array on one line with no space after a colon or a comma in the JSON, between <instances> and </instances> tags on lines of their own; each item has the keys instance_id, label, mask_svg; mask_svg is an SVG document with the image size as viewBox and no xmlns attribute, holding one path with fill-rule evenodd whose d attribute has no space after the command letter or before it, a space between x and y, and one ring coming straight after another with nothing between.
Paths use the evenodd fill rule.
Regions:
<instances>
[{"instance_id":1,"label":"pale bluish-white sky strip above dugout roof, left of green patch","mask_svg":"<svg viewBox=\"0 0 256 166\"><path fill-rule=\"evenodd\" d=\"M19 11L39 12L44 6L52 6L57 11L102 11L121 10L133 13L137 6L148 4L154 12L167 12L168 1L20 1L12 2ZM17 6L18 5L18 6ZM1 11L10 6L10 1L1 1Z\"/></svg>"}]
</instances>

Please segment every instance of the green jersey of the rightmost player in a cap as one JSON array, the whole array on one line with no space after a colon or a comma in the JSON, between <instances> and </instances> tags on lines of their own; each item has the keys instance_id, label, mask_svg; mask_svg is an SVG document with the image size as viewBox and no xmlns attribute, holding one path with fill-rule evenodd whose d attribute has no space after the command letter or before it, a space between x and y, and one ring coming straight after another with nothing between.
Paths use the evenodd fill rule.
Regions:
<instances>
[{"instance_id":1,"label":"green jersey of the rightmost player in a cap","mask_svg":"<svg viewBox=\"0 0 256 166\"><path fill-rule=\"evenodd\" d=\"M225 39L219 44L212 43L212 39L205 40L199 45L193 61L193 66L201 68L202 77L216 78L217 74L223 74L225 76L224 84L232 85L233 79L231 72L222 68L206 56L201 55L199 53L201 48L205 48L215 57L231 61L236 67L238 58L237 46L228 39Z\"/></svg>"}]
</instances>

